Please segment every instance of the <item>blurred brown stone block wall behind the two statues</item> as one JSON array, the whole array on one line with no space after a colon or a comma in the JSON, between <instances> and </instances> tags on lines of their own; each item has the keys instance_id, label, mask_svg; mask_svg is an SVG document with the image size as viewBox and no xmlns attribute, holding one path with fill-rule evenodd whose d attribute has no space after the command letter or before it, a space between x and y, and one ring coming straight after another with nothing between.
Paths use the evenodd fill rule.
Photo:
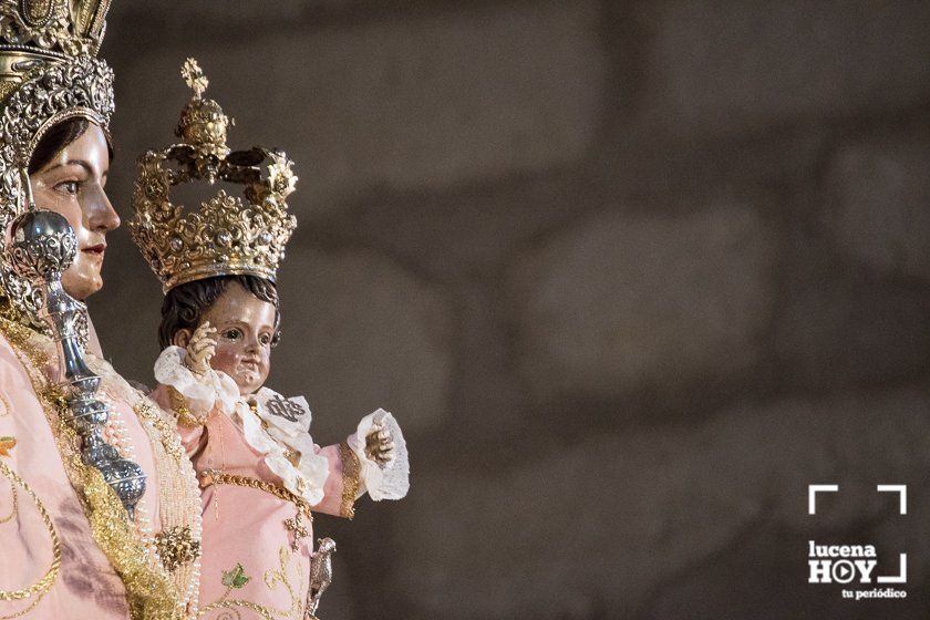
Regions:
<instances>
[{"instance_id":1,"label":"blurred brown stone block wall behind the two statues","mask_svg":"<svg viewBox=\"0 0 930 620\"><path fill-rule=\"evenodd\" d=\"M930 4L111 16L124 220L194 55L231 145L298 163L270 385L323 443L376 406L405 425L409 498L317 521L324 618L930 611ZM92 311L149 381L159 289L112 237ZM843 489L817 517L812 483ZM907 551L908 599L808 586L808 539Z\"/></svg>"}]
</instances>

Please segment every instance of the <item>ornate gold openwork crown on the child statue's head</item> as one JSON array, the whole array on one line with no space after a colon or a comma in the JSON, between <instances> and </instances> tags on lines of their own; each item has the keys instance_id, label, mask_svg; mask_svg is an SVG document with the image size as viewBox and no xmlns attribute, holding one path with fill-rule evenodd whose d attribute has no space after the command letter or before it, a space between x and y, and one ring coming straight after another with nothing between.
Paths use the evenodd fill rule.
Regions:
<instances>
[{"instance_id":1,"label":"ornate gold openwork crown on the child statue's head","mask_svg":"<svg viewBox=\"0 0 930 620\"><path fill-rule=\"evenodd\" d=\"M273 281L297 226L286 203L297 183L293 162L281 151L258 146L230 153L226 133L232 122L219 104L204 99L208 82L197 61L187 59L182 76L194 90L176 130L182 143L140 157L130 223L133 240L164 292L214 276L252 275ZM217 179L242 185L247 203L220 190L197 213L185 215L184 207L170 200L176 185Z\"/></svg>"}]
</instances>

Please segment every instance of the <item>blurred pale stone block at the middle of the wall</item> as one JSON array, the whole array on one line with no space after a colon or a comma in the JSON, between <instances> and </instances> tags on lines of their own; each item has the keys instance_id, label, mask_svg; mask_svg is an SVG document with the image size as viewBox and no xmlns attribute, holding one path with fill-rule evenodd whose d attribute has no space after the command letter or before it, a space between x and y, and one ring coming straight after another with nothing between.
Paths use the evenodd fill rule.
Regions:
<instances>
[{"instance_id":1,"label":"blurred pale stone block at the middle of the wall","mask_svg":"<svg viewBox=\"0 0 930 620\"><path fill-rule=\"evenodd\" d=\"M512 273L521 368L538 396L675 390L758 356L773 236L750 208L678 218L603 214Z\"/></svg>"}]
</instances>

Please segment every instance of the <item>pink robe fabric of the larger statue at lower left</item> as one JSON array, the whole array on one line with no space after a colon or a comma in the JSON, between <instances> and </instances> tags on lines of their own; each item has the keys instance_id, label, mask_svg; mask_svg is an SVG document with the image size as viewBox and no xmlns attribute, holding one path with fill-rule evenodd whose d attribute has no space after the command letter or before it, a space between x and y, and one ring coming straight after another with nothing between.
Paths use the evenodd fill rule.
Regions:
<instances>
[{"instance_id":1,"label":"pink robe fabric of the larger statue at lower left","mask_svg":"<svg viewBox=\"0 0 930 620\"><path fill-rule=\"evenodd\" d=\"M158 531L158 480L148 436L126 403L115 402L113 406L122 414L135 446L135 459L147 475L146 513L153 530ZM0 618L30 608L24 618L128 618L123 582L91 535L29 375L2 335L0 436L12 436L17 442L7 456L0 456L0 590L10 593L29 588L52 564L51 535L32 496L10 472L28 485L45 508L61 544L61 567L51 588L21 600L4 600L8 597L0 593Z\"/></svg>"}]
</instances>

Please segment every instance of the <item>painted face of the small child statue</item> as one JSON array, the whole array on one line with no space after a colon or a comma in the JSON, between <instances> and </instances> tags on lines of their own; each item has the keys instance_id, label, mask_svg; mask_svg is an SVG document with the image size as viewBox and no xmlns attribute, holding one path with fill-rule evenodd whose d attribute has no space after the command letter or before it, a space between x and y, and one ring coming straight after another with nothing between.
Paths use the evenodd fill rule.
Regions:
<instances>
[{"instance_id":1,"label":"painted face of the small child statue","mask_svg":"<svg viewBox=\"0 0 930 620\"><path fill-rule=\"evenodd\" d=\"M261 388L271 370L275 306L230 282L202 320L216 328L210 365L231 376L240 394Z\"/></svg>"}]
</instances>

